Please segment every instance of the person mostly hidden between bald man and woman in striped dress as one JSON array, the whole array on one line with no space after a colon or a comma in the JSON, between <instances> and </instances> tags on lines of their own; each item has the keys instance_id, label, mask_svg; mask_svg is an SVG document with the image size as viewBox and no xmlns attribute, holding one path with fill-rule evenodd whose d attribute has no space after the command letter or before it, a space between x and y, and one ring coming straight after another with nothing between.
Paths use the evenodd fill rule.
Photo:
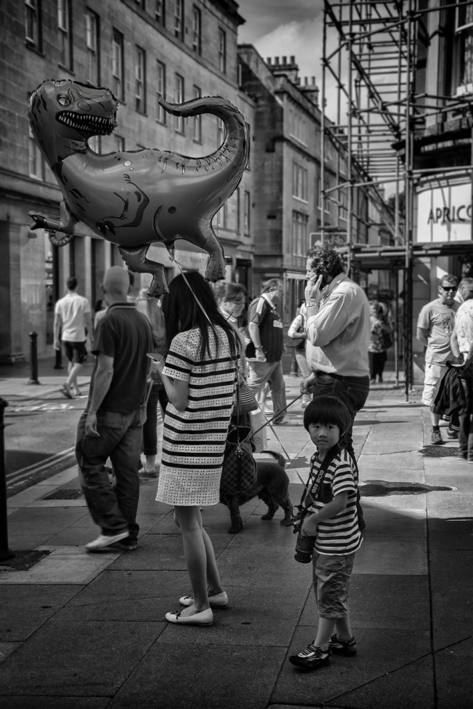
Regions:
<instances>
[{"instance_id":1,"label":"person mostly hidden between bald man and woman in striped dress","mask_svg":"<svg viewBox=\"0 0 473 709\"><path fill-rule=\"evenodd\" d=\"M162 314L160 298L150 296L148 288L142 288L136 298L136 309L143 313L150 321L153 339L153 351L165 354L166 328L165 318ZM155 368L152 369L152 386L146 404L146 420L143 424L143 454L145 464L138 469L138 473L150 477L157 477L160 464L156 463L157 457L157 407L161 408L161 418L165 418L167 406L167 393L165 385Z\"/></svg>"}]
</instances>

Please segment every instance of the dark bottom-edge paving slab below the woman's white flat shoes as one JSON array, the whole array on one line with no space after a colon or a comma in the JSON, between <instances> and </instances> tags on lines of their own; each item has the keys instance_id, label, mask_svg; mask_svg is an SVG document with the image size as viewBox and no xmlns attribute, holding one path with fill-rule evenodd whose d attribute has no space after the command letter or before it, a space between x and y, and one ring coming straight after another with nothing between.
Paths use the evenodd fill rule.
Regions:
<instances>
[{"instance_id":1,"label":"dark bottom-edge paving slab below the woman's white flat shoes","mask_svg":"<svg viewBox=\"0 0 473 709\"><path fill-rule=\"evenodd\" d=\"M182 640L157 642L111 700L108 709L261 709L284 661L284 647L207 647ZM202 635L202 630L199 634ZM186 635L184 635L186 634ZM252 670L248 674L248 668Z\"/></svg>"}]
</instances>

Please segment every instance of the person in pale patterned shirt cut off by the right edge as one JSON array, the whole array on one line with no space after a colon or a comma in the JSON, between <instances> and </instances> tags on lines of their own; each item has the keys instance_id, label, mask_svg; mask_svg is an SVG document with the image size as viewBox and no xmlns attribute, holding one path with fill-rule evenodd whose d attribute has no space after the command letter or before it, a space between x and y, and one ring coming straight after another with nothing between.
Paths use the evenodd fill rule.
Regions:
<instances>
[{"instance_id":1,"label":"person in pale patterned shirt cut off by the right edge","mask_svg":"<svg viewBox=\"0 0 473 709\"><path fill-rule=\"evenodd\" d=\"M455 313L455 328L450 345L455 357L462 362L459 367L460 381L466 403L460 413L458 430L458 457L473 464L473 279L467 289L467 298Z\"/></svg>"}]
</instances>

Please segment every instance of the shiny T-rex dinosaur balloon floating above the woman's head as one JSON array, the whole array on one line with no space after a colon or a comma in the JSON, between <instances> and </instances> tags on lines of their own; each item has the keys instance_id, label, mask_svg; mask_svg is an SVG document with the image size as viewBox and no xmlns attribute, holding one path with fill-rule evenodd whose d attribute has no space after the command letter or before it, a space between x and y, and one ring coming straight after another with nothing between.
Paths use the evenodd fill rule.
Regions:
<instances>
[{"instance_id":1,"label":"shiny T-rex dinosaur balloon floating above the woman's head","mask_svg":"<svg viewBox=\"0 0 473 709\"><path fill-rule=\"evenodd\" d=\"M223 121L226 137L206 157L185 157L150 148L98 155L87 140L110 135L118 102L108 89L48 80L30 98L30 125L62 191L60 218L30 212L32 229L74 234L78 221L118 245L130 270L151 273L150 293L167 291L164 267L146 258L152 242L174 251L185 239L210 255L206 278L225 276L225 258L212 218L233 194L245 170L249 136L245 119L221 96L184 104L160 105L174 116L212 113ZM69 241L62 240L62 243Z\"/></svg>"}]
</instances>

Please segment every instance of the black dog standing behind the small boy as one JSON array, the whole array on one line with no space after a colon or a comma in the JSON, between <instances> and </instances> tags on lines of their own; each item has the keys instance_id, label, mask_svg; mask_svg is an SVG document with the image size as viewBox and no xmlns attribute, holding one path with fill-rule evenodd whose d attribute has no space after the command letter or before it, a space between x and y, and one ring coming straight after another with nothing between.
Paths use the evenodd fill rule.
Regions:
<instances>
[{"instance_id":1,"label":"black dog standing behind the small boy","mask_svg":"<svg viewBox=\"0 0 473 709\"><path fill-rule=\"evenodd\" d=\"M240 517L240 505L249 502L256 496L267 504L268 511L262 515L262 520L272 520L274 513L281 506L284 510L284 520L281 520L282 525L292 525L292 504L289 500L288 486L289 478L284 466L286 462L280 453L275 453L271 450L265 451L271 454L276 462L256 462L257 478L255 486L250 490L235 493L234 495L223 495L220 498L221 503L226 505L230 510L231 527L228 529L229 534L237 534L243 529L243 522Z\"/></svg>"}]
</instances>

